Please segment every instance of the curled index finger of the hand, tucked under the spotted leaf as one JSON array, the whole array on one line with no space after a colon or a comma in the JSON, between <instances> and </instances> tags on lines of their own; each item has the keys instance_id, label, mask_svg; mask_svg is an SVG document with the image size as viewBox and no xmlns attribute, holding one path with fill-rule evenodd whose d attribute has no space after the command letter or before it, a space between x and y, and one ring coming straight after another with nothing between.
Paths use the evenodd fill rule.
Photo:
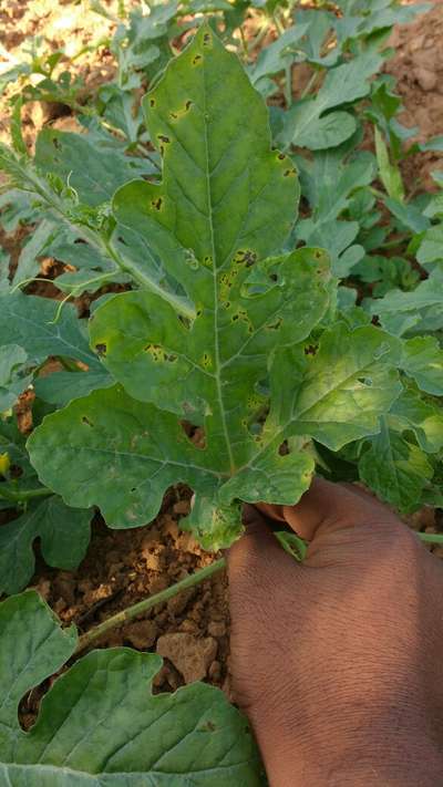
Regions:
<instances>
[{"instance_id":1,"label":"curled index finger of the hand, tucked under the spotted leaf","mask_svg":"<svg viewBox=\"0 0 443 787\"><path fill-rule=\"evenodd\" d=\"M312 541L320 530L365 528L394 516L370 495L324 478L315 478L299 503L284 506L282 512L288 525L307 541Z\"/></svg>"}]
</instances>

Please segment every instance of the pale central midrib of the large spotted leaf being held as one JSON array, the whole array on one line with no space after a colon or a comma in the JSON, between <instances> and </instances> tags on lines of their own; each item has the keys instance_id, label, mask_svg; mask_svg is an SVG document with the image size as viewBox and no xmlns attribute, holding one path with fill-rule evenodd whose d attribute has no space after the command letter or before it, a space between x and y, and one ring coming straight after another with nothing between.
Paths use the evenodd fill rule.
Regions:
<instances>
[{"instance_id":1,"label":"pale central midrib of the large spotted leaf being held","mask_svg":"<svg viewBox=\"0 0 443 787\"><path fill-rule=\"evenodd\" d=\"M229 467L230 467L230 473L234 475L235 473L235 460L234 460L234 453L233 453L233 447L230 445L230 439L229 439L229 432L226 423L226 413L225 413L225 406L224 406L224 401L223 401L223 392L222 392L222 365L220 365L220 351L219 351L219 334L218 334L218 268L217 268L217 255L216 255L216 248L215 248L215 238L214 238L214 221L213 221L213 194L212 194L212 187L210 187L210 170L209 170L209 142L208 142L208 127L207 127L207 118L206 118L206 77L205 77L205 63L203 64L203 127L205 131L205 160L206 160L206 173L205 173L205 180L206 180L206 199L207 199L207 206L208 206L208 221L209 221L209 232L210 232L210 247L213 251L213 293L214 293L214 365L215 365L215 384L217 389L217 400L218 400L218 408L219 408L219 415L220 415L220 421L222 421L222 428L223 428L223 434L225 437L225 443L226 443L226 449L228 453L228 458L229 458Z\"/></svg>"}]
</instances>

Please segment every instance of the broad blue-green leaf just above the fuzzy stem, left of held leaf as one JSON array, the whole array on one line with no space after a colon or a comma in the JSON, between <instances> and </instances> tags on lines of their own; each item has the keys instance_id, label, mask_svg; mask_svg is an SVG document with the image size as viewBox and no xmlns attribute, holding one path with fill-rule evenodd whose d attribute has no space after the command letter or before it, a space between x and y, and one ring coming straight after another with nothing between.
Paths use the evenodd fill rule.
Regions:
<instances>
[{"instance_id":1,"label":"broad blue-green leaf just above the fuzzy stem, left of held leaf","mask_svg":"<svg viewBox=\"0 0 443 787\"><path fill-rule=\"evenodd\" d=\"M112 149L112 148L111 148ZM112 198L119 186L146 172L140 158L117 155L85 134L43 128L35 145L35 164L44 173L55 173L69 182L81 203L96 206Z\"/></svg>"}]
</instances>

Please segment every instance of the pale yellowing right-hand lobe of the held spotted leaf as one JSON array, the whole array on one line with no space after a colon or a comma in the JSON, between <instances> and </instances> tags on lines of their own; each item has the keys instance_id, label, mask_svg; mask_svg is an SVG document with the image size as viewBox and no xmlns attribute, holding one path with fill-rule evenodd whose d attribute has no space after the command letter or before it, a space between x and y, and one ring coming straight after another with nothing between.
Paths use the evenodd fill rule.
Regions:
<instances>
[{"instance_id":1,"label":"pale yellowing right-hand lobe of the held spotted leaf","mask_svg":"<svg viewBox=\"0 0 443 787\"><path fill-rule=\"evenodd\" d=\"M380 413L401 392L394 371L400 355L398 339L373 325L350 330L341 322L307 353L296 348L276 355L266 431L285 424L289 434L311 435L332 451L374 434Z\"/></svg>"}]
</instances>

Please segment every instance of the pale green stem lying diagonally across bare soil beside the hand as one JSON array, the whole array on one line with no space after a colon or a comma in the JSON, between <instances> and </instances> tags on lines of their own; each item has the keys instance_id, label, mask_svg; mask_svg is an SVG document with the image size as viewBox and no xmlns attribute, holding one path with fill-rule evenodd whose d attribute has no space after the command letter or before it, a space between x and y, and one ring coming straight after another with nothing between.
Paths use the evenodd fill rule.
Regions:
<instances>
[{"instance_id":1,"label":"pale green stem lying diagonally across bare soil beside the hand","mask_svg":"<svg viewBox=\"0 0 443 787\"><path fill-rule=\"evenodd\" d=\"M150 596L150 598L144 599L143 601L137 601L137 603L132 604L132 607L126 607L125 610L117 612L107 620L103 621L103 623L95 625L93 629L90 629L90 631L86 631L85 634L80 636L76 653L87 648L91 642L97 640L106 631L116 629L117 627L123 625L123 623L127 620L133 620L142 612L147 612L147 610L151 610L153 607L156 607L164 601L168 601L168 599L172 599L174 596L177 596L177 593L181 593L182 590L199 584L199 582L208 579L208 577L222 571L225 566L226 559L220 558L214 563L210 563L210 566L205 566L205 568L199 571L196 571L189 577L185 577L185 579L182 579L179 582L172 584L169 588L166 588L166 590L162 590L159 593L155 593L155 596Z\"/></svg>"}]
</instances>

